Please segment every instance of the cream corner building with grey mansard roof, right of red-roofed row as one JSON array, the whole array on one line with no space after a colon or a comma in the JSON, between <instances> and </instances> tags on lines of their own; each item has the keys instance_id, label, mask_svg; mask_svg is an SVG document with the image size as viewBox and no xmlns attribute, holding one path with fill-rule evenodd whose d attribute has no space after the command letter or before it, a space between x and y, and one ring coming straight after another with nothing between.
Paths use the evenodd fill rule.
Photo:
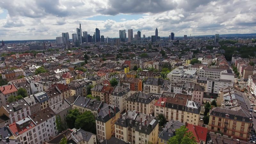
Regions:
<instances>
[{"instance_id":1,"label":"cream corner building with grey mansard roof, right of red-roofed row","mask_svg":"<svg viewBox=\"0 0 256 144\"><path fill-rule=\"evenodd\" d=\"M131 91L127 87L116 86L111 93L109 104L116 106L122 112L125 109L125 100L131 95Z\"/></svg>"}]
</instances>

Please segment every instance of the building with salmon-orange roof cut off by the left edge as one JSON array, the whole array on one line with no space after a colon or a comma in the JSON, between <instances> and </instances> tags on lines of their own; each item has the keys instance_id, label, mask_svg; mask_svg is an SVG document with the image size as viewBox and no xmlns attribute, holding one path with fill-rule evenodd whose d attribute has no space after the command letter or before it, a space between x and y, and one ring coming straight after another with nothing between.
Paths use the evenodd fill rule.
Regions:
<instances>
[{"instance_id":1,"label":"building with salmon-orange roof cut off by the left edge","mask_svg":"<svg viewBox=\"0 0 256 144\"><path fill-rule=\"evenodd\" d=\"M0 104L6 105L9 96L17 96L17 94L18 89L14 86L14 84L0 86Z\"/></svg>"}]
</instances>

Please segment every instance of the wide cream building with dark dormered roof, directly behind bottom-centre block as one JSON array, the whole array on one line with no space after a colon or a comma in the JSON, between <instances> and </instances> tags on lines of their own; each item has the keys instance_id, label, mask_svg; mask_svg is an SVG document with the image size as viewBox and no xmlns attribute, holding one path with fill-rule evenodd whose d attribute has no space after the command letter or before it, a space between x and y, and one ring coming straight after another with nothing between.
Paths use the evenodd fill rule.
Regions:
<instances>
[{"instance_id":1,"label":"wide cream building with dark dormered roof, directly behind bottom-centre block","mask_svg":"<svg viewBox=\"0 0 256 144\"><path fill-rule=\"evenodd\" d=\"M125 100L127 110L136 110L142 114L153 114L156 96L154 93L135 92Z\"/></svg>"}]
</instances>

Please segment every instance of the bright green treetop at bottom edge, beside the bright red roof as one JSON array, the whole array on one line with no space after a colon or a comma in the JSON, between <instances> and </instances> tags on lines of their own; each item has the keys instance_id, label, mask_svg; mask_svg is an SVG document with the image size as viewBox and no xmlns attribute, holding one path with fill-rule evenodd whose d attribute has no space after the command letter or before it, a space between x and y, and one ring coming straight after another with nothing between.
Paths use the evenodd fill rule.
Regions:
<instances>
[{"instance_id":1,"label":"bright green treetop at bottom edge, beside the bright red roof","mask_svg":"<svg viewBox=\"0 0 256 144\"><path fill-rule=\"evenodd\" d=\"M175 135L168 140L168 144L196 144L196 138L183 125L175 130Z\"/></svg>"}]
</instances>

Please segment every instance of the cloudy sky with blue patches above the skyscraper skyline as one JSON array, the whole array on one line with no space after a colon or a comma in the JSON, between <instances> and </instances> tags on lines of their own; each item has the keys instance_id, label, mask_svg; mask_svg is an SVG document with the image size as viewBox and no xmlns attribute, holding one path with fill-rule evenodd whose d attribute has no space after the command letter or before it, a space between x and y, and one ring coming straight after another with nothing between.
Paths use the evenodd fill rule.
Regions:
<instances>
[{"instance_id":1,"label":"cloudy sky with blue patches above the skyscraper skyline","mask_svg":"<svg viewBox=\"0 0 256 144\"><path fill-rule=\"evenodd\" d=\"M69 37L82 31L118 37L119 30L141 36L256 33L255 0L1 0L0 39Z\"/></svg>"}]
</instances>

